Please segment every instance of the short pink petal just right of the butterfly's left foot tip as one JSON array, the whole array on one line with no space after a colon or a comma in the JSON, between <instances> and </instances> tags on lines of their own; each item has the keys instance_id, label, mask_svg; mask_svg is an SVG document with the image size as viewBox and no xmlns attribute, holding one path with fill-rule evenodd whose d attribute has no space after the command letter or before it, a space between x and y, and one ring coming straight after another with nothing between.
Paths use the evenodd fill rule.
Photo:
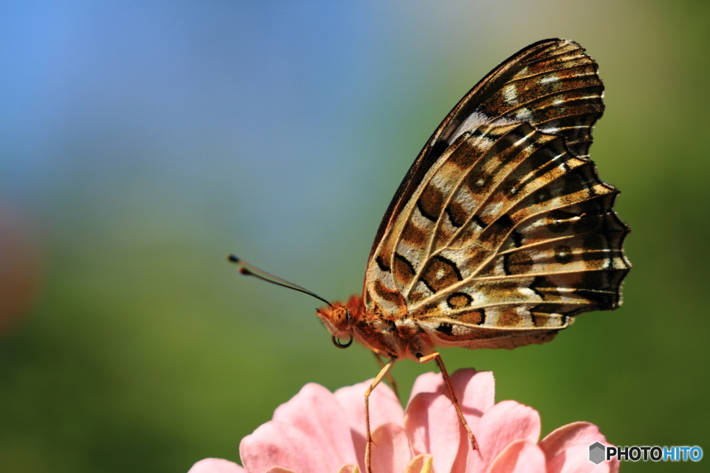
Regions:
<instances>
[{"instance_id":1,"label":"short pink petal just right of the butterfly's left foot tip","mask_svg":"<svg viewBox=\"0 0 710 473\"><path fill-rule=\"evenodd\" d=\"M386 423L372 433L372 470L402 473L412 458L407 433L400 425Z\"/></svg>"}]
</instances>

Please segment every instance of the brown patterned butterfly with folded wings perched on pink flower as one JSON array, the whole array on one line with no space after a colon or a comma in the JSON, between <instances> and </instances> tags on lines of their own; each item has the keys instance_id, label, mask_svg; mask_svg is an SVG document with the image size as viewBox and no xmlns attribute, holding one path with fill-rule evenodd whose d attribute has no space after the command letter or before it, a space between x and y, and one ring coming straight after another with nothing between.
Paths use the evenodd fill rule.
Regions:
<instances>
[{"instance_id":1,"label":"brown patterned butterfly with folded wings perched on pink flower","mask_svg":"<svg viewBox=\"0 0 710 473\"><path fill-rule=\"evenodd\" d=\"M317 315L338 347L356 340L390 360L365 393L368 472L368 396L395 361L437 361L476 449L437 347L540 344L581 312L621 304L629 228L589 160L604 105L584 51L539 41L461 99L395 192L362 295L328 303L230 256L242 273L324 300Z\"/></svg>"}]
</instances>

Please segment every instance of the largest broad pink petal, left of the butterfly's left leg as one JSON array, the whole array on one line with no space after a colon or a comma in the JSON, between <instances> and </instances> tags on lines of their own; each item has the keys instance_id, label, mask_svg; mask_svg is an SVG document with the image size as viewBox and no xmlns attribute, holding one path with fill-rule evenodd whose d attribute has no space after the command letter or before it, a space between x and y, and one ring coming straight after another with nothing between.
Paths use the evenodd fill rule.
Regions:
<instances>
[{"instance_id":1,"label":"largest broad pink petal, left of the butterfly's left leg","mask_svg":"<svg viewBox=\"0 0 710 473\"><path fill-rule=\"evenodd\" d=\"M273 420L241 440L239 453L251 473L274 466L333 472L356 462L346 415L333 394L318 384L306 384L279 406Z\"/></svg>"}]
</instances>

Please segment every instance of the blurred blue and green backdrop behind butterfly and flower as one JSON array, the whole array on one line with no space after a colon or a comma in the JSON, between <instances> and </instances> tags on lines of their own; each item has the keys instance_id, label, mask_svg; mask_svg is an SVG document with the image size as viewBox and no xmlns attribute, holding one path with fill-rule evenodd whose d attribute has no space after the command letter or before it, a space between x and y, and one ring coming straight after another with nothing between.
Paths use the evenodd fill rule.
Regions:
<instances>
[{"instance_id":1,"label":"blurred blue and green backdrop behind butterfly and flower","mask_svg":"<svg viewBox=\"0 0 710 473\"><path fill-rule=\"evenodd\" d=\"M0 3L0 471L186 472L300 387L376 374L305 295L361 290L439 121L536 40L600 64L591 156L633 232L624 305L555 342L447 350L497 399L617 445L710 453L710 4ZM408 393L433 369L405 361ZM643 463L623 471L700 471Z\"/></svg>"}]
</instances>

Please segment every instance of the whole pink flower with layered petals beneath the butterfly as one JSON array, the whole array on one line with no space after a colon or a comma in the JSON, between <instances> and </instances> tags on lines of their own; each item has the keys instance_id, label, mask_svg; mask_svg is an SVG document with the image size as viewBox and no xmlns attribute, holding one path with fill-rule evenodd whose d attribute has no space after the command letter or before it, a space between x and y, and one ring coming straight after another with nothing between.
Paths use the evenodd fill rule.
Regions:
<instances>
[{"instance_id":1,"label":"whole pink flower with layered petals beneath the butterfly","mask_svg":"<svg viewBox=\"0 0 710 473\"><path fill-rule=\"evenodd\" d=\"M589 461L589 445L610 445L596 425L564 425L537 443L540 415L515 401L495 404L492 373L461 369L451 379L479 450L471 450L442 376L422 374L406 411L384 384L371 395L374 473L618 472L616 460ZM370 382L335 393L303 386L241 441L244 468L209 458L189 473L352 473L356 467L364 473L363 394Z\"/></svg>"}]
</instances>

